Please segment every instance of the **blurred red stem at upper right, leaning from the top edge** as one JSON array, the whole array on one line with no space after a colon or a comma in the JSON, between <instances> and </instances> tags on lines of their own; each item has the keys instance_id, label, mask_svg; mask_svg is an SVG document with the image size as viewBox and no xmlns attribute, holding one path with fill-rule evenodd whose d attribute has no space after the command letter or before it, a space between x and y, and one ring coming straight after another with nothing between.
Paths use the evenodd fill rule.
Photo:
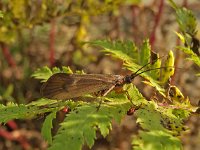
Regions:
<instances>
[{"instance_id":1,"label":"blurred red stem at upper right, leaning from the top edge","mask_svg":"<svg viewBox=\"0 0 200 150\"><path fill-rule=\"evenodd\" d=\"M160 18L161 18L161 14L162 14L162 11L163 11L163 6L164 6L164 0L160 0L160 5L159 5L158 13L155 16L155 20L154 20L155 23L154 23L154 26L153 26L152 33L150 35L150 44L151 44L152 48L153 48L154 43L156 41L155 33L156 33L156 29L158 27L158 24L159 24L159 21L160 21Z\"/></svg>"}]
</instances>

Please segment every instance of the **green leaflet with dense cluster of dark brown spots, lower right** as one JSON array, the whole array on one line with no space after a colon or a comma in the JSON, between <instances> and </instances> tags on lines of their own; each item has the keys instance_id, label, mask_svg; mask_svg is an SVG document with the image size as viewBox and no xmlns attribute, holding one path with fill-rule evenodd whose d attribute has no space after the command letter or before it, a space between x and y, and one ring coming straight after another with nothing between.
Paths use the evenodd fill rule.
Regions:
<instances>
[{"instance_id":1,"label":"green leaflet with dense cluster of dark brown spots, lower right","mask_svg":"<svg viewBox=\"0 0 200 150\"><path fill-rule=\"evenodd\" d=\"M145 105L141 105L135 114L137 122L145 130L162 130L179 135L180 132L185 131L183 120L188 117L189 111L179 109L179 115L177 115L176 113L174 114L174 108L158 106L155 102L151 101Z\"/></svg>"}]
</instances>

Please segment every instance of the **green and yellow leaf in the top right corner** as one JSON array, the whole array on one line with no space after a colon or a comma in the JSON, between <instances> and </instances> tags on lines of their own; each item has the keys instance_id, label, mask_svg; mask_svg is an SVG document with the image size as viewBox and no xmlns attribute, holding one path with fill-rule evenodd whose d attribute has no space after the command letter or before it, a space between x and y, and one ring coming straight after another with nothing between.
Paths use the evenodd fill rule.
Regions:
<instances>
[{"instance_id":1,"label":"green and yellow leaf in the top right corner","mask_svg":"<svg viewBox=\"0 0 200 150\"><path fill-rule=\"evenodd\" d=\"M179 24L181 33L176 33L185 47L179 46L178 49L189 55L190 60L200 66L199 58L199 40L195 38L197 33L197 21L192 11L178 7L172 0L169 0L171 6L176 11L176 19Z\"/></svg>"}]
</instances>

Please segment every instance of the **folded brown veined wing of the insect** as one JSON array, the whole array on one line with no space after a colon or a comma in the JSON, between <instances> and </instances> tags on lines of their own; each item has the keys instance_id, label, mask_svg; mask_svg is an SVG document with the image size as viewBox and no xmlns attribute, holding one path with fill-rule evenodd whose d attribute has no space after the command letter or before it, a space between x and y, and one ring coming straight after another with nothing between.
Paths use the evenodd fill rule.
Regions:
<instances>
[{"instance_id":1,"label":"folded brown veined wing of the insect","mask_svg":"<svg viewBox=\"0 0 200 150\"><path fill-rule=\"evenodd\" d=\"M57 73L42 86L41 93L46 98L70 99L107 89L117 79L117 75Z\"/></svg>"}]
</instances>

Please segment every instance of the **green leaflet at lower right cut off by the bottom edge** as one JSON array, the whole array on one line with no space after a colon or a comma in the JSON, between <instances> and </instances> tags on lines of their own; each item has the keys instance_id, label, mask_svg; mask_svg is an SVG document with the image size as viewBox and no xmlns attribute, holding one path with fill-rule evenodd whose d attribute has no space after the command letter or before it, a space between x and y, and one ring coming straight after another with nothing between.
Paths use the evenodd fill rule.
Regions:
<instances>
[{"instance_id":1,"label":"green leaflet at lower right cut off by the bottom edge","mask_svg":"<svg viewBox=\"0 0 200 150\"><path fill-rule=\"evenodd\" d=\"M133 139L134 150L180 150L181 141L164 131L140 131L139 137Z\"/></svg>"}]
</instances>

